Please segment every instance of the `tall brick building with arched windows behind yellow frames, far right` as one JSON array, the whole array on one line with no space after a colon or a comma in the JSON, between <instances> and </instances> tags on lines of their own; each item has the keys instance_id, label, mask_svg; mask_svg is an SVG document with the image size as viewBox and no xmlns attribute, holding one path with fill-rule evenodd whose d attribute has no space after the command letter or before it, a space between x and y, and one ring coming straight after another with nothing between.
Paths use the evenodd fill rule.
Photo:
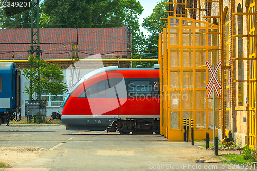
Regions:
<instances>
[{"instance_id":1,"label":"tall brick building with arched windows behind yellow frames, far right","mask_svg":"<svg viewBox=\"0 0 257 171\"><path fill-rule=\"evenodd\" d=\"M247 13L250 1L223 1L223 33L224 33L224 128L228 136L232 132L236 143L244 146L249 144L249 15L233 13ZM214 4L214 3L212 3ZM216 16L219 11L218 3L212 5L211 15ZM256 128L256 127L255 127ZM256 144L255 144L256 145Z\"/></svg>"}]
</instances>

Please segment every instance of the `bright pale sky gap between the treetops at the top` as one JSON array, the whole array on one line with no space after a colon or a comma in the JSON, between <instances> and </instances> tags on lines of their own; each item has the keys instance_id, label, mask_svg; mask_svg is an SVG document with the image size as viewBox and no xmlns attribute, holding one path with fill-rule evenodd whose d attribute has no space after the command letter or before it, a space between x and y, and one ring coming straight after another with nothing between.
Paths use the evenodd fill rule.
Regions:
<instances>
[{"instance_id":1,"label":"bright pale sky gap between the treetops at the top","mask_svg":"<svg viewBox=\"0 0 257 171\"><path fill-rule=\"evenodd\" d=\"M155 5L160 2L159 0L139 0L140 4L143 6L143 13L139 16L139 24L143 23L143 18L147 18L152 12ZM140 26L140 30L144 32L144 35L149 35L150 33L147 32L142 26Z\"/></svg>"}]
</instances>

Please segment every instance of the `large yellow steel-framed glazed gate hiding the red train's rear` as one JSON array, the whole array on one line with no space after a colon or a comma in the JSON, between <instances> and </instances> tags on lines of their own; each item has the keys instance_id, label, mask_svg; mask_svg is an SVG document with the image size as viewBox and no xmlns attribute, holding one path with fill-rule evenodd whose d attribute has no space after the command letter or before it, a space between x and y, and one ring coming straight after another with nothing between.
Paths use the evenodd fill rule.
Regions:
<instances>
[{"instance_id":1,"label":"large yellow steel-framed glazed gate hiding the red train's rear","mask_svg":"<svg viewBox=\"0 0 257 171\"><path fill-rule=\"evenodd\" d=\"M163 68L160 67L160 78L163 77L160 79L163 90L160 112L164 111L161 130L169 141L183 140L183 118L195 120L196 139L203 139L206 132L213 138L213 109L211 98L206 99L208 68L205 61L217 64L220 60L218 30L217 25L207 22L168 16L163 29L164 55L163 58L159 55L159 63L163 64ZM216 134L219 128L218 101L217 98Z\"/></svg>"}]
</instances>

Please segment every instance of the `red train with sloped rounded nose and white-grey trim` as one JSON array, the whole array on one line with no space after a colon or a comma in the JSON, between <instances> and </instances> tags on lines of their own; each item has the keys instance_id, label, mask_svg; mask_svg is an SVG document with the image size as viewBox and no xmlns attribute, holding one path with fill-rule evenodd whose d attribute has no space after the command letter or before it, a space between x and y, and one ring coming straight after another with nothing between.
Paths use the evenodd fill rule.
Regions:
<instances>
[{"instance_id":1,"label":"red train with sloped rounded nose and white-grey trim","mask_svg":"<svg viewBox=\"0 0 257 171\"><path fill-rule=\"evenodd\" d=\"M60 110L67 130L159 133L159 65L90 72L66 93Z\"/></svg>"}]
</instances>

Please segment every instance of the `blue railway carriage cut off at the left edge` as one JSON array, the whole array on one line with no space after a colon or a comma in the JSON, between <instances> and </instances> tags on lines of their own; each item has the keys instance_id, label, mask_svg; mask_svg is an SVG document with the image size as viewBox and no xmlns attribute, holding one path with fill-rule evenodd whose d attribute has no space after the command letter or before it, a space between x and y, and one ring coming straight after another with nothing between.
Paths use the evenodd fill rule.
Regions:
<instances>
[{"instance_id":1,"label":"blue railway carriage cut off at the left edge","mask_svg":"<svg viewBox=\"0 0 257 171\"><path fill-rule=\"evenodd\" d=\"M21 72L14 62L0 62L0 124L21 118L20 101Z\"/></svg>"}]
</instances>

